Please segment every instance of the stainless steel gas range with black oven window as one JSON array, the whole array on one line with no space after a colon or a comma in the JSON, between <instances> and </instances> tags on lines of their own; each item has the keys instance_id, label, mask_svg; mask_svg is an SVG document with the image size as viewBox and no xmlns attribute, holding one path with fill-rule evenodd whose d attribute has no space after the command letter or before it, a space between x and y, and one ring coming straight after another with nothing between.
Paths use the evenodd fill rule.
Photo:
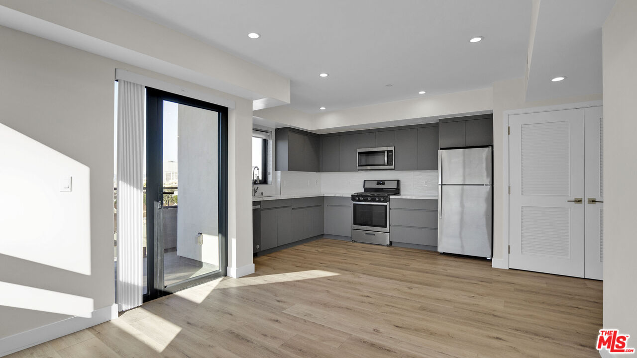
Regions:
<instances>
[{"instance_id":1,"label":"stainless steel gas range with black oven window","mask_svg":"<svg viewBox=\"0 0 637 358\"><path fill-rule=\"evenodd\" d=\"M400 180L364 180L352 195L352 241L389 246L389 197L400 194Z\"/></svg>"}]
</instances>

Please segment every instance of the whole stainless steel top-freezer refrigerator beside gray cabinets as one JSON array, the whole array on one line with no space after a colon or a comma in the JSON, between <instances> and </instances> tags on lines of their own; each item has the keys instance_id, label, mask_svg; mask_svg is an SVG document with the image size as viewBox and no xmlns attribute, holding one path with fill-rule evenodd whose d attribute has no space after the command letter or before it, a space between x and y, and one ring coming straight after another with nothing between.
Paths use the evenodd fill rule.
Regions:
<instances>
[{"instance_id":1,"label":"whole stainless steel top-freezer refrigerator beside gray cabinets","mask_svg":"<svg viewBox=\"0 0 637 358\"><path fill-rule=\"evenodd\" d=\"M492 149L438 151L438 251L491 258Z\"/></svg>"}]
</instances>

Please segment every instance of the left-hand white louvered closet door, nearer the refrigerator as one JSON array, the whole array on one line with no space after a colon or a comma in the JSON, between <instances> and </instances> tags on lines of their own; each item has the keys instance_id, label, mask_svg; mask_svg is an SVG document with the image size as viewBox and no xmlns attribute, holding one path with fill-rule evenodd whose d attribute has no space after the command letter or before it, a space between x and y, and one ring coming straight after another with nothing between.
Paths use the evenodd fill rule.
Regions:
<instances>
[{"instance_id":1,"label":"left-hand white louvered closet door, nearer the refrigerator","mask_svg":"<svg viewBox=\"0 0 637 358\"><path fill-rule=\"evenodd\" d=\"M511 115L509 122L510 267L583 277L583 109Z\"/></svg>"}]
</instances>

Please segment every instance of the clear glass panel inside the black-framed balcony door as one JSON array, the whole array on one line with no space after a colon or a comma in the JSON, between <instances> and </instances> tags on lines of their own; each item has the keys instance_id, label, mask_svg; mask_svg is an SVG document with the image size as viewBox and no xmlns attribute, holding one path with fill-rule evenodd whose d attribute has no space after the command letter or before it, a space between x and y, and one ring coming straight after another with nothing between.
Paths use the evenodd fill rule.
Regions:
<instances>
[{"instance_id":1,"label":"clear glass panel inside the black-framed balcony door","mask_svg":"<svg viewBox=\"0 0 637 358\"><path fill-rule=\"evenodd\" d=\"M218 271L218 113L164 101L164 286Z\"/></svg>"}]
</instances>

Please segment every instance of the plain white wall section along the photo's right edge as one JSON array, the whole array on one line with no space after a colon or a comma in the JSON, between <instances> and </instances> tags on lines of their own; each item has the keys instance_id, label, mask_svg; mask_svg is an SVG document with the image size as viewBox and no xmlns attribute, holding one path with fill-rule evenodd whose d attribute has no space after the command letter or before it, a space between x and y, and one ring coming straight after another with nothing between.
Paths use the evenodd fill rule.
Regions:
<instances>
[{"instance_id":1,"label":"plain white wall section along the photo's right edge","mask_svg":"<svg viewBox=\"0 0 637 358\"><path fill-rule=\"evenodd\" d=\"M604 328L637 348L637 1L617 0L603 27Z\"/></svg>"}]
</instances>

